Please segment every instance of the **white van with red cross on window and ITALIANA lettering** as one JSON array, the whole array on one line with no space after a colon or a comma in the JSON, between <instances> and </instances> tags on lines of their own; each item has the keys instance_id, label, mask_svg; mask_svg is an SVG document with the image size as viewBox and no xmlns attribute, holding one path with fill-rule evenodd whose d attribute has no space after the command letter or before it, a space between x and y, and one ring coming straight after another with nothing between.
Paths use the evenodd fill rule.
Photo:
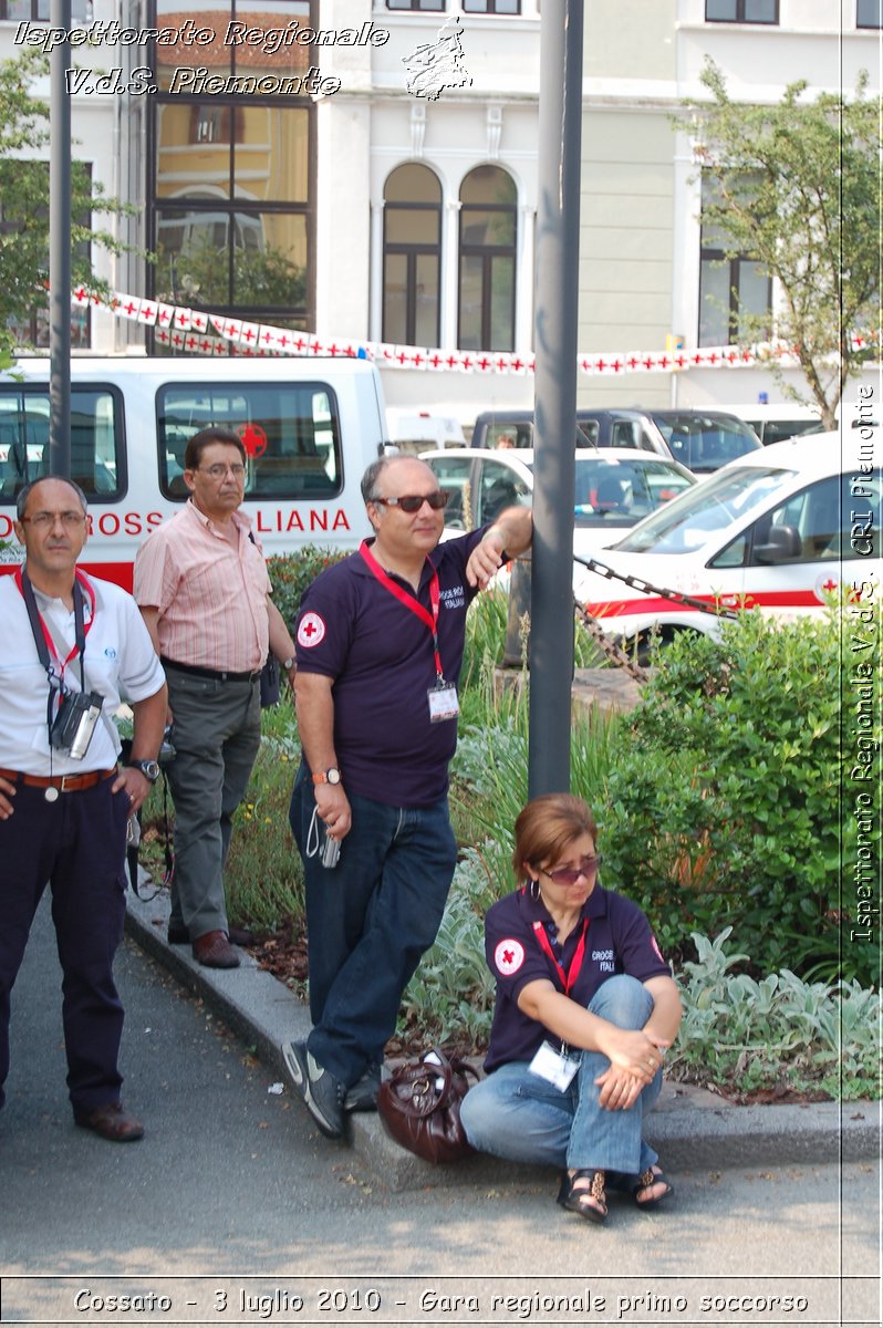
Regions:
<instances>
[{"instance_id":1,"label":"white van with red cross on window and ITALIANA lettering","mask_svg":"<svg viewBox=\"0 0 883 1328\"><path fill-rule=\"evenodd\" d=\"M369 534L360 479L384 449L380 374L366 360L70 361L70 477L89 498L84 568L131 590L141 540L187 498L183 457L207 425L248 454L244 511L264 554L356 548ZM17 563L23 485L48 474L49 361L0 373L0 562Z\"/></svg>"}]
</instances>

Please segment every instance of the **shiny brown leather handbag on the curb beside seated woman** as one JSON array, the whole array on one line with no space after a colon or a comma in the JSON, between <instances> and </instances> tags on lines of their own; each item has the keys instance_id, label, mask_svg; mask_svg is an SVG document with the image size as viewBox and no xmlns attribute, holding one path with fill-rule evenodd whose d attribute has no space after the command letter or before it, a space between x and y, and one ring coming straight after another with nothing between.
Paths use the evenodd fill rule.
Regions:
<instances>
[{"instance_id":1,"label":"shiny brown leather handbag on the curb beside seated woman","mask_svg":"<svg viewBox=\"0 0 883 1328\"><path fill-rule=\"evenodd\" d=\"M434 1046L400 1065L380 1085L377 1110L388 1133L426 1162L457 1162L474 1153L459 1120L459 1104L478 1074L459 1057Z\"/></svg>"}]
</instances>

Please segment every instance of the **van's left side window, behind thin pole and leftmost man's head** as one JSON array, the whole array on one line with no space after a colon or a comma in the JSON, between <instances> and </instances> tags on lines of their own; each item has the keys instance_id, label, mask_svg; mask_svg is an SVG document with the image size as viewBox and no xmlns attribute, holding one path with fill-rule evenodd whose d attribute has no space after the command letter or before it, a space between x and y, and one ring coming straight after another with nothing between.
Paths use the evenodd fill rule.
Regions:
<instances>
[{"instance_id":1,"label":"van's left side window, behind thin pole and leftmost man's head","mask_svg":"<svg viewBox=\"0 0 883 1328\"><path fill-rule=\"evenodd\" d=\"M90 503L126 491L122 396L117 388L70 389L70 478ZM0 389L0 501L49 474L49 389Z\"/></svg>"}]
</instances>

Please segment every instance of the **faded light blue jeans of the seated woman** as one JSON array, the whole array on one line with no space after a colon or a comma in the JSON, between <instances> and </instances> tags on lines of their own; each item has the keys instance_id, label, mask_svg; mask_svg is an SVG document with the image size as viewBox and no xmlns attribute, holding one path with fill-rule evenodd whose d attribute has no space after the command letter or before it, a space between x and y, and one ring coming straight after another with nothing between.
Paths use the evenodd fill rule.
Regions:
<instances>
[{"instance_id":1,"label":"faded light blue jeans of the seated woman","mask_svg":"<svg viewBox=\"0 0 883 1328\"><path fill-rule=\"evenodd\" d=\"M588 1009L617 1028L640 1029L651 1016L653 999L637 979L619 973L595 992ZM463 1098L466 1137L482 1153L513 1162L637 1175L657 1161L641 1138L641 1126L644 1113L659 1097L663 1072L627 1112L609 1112L599 1105L600 1088L595 1084L608 1066L602 1052L583 1052L571 1086L562 1093L532 1074L527 1061L501 1065Z\"/></svg>"}]
</instances>

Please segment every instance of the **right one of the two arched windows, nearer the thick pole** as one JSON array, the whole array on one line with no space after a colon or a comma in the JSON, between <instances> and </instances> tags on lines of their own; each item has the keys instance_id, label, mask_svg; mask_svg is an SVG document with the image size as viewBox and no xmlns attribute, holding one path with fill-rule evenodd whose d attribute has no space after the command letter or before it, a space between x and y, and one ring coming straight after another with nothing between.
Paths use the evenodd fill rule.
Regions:
<instances>
[{"instance_id":1,"label":"right one of the two arched windows, nearer the thick pole","mask_svg":"<svg viewBox=\"0 0 883 1328\"><path fill-rule=\"evenodd\" d=\"M515 345L515 182L478 166L459 190L459 320L462 351Z\"/></svg>"}]
</instances>

